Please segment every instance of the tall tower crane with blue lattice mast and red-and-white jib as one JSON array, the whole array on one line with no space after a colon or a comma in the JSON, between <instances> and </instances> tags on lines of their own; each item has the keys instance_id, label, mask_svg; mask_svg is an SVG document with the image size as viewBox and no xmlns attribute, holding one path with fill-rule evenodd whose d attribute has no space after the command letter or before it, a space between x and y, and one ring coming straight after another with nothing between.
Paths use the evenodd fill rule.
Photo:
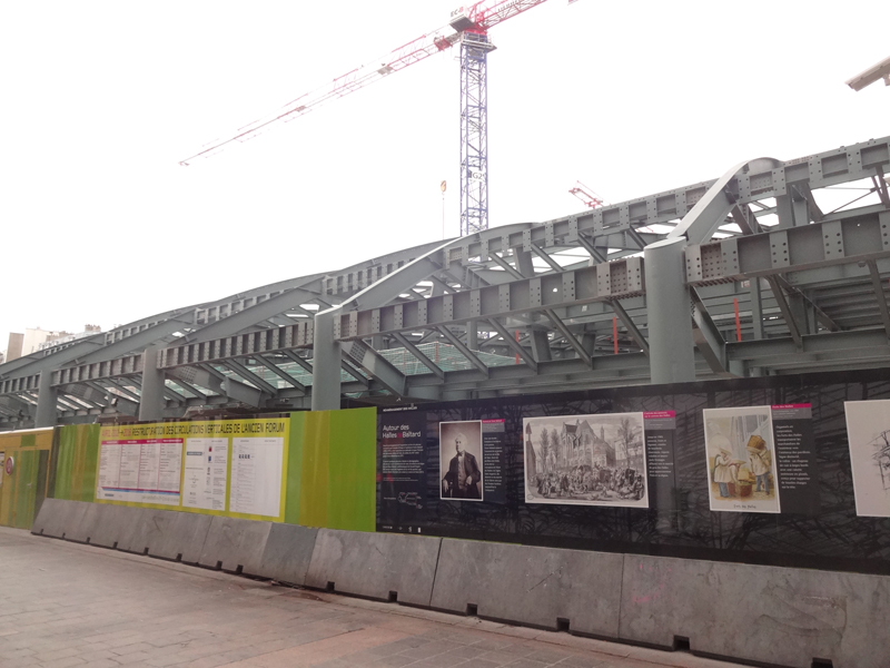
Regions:
<instances>
[{"instance_id":1,"label":"tall tower crane with blue lattice mast and red-and-white jib","mask_svg":"<svg viewBox=\"0 0 890 668\"><path fill-rule=\"evenodd\" d=\"M461 236L488 229L488 86L487 58L495 49L488 30L546 0L481 0L451 12L448 24L422 35L383 58L358 67L289 101L284 107L239 128L235 135L206 145L181 160L190 165L210 157L235 141L291 121L379 81L384 77L461 45Z\"/></svg>"}]
</instances>

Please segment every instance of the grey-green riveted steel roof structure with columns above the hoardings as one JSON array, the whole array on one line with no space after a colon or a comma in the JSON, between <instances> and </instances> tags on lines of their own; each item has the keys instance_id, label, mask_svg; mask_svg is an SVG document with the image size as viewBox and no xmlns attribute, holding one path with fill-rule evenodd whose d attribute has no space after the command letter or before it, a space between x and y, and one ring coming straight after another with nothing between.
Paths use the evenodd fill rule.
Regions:
<instances>
[{"instance_id":1,"label":"grey-green riveted steel roof structure with columns above the hoardings","mask_svg":"<svg viewBox=\"0 0 890 668\"><path fill-rule=\"evenodd\" d=\"M0 365L0 430L890 366L888 171L761 158L160 313Z\"/></svg>"}]
</instances>

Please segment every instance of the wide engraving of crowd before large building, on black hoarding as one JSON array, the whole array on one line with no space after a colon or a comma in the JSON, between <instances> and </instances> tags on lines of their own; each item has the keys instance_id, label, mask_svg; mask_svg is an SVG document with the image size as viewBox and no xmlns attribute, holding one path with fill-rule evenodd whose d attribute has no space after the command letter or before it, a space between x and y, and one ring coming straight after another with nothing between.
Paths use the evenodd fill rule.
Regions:
<instances>
[{"instance_id":1,"label":"wide engraving of crowd before large building, on black hoarding","mask_svg":"<svg viewBox=\"0 0 890 668\"><path fill-rule=\"evenodd\" d=\"M643 413L525 418L525 501L649 508Z\"/></svg>"}]
</instances>

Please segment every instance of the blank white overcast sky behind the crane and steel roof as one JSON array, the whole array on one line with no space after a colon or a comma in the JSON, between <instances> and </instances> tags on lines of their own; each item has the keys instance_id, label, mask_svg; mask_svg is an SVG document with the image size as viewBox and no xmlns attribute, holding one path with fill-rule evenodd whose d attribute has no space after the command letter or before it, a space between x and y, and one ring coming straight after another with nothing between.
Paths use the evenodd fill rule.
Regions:
<instances>
[{"instance_id":1,"label":"blank white overcast sky behind the crane and steel roof","mask_svg":"<svg viewBox=\"0 0 890 668\"><path fill-rule=\"evenodd\" d=\"M178 161L447 21L454 0L0 3L0 350L458 230L457 50ZM550 0L488 59L491 225L890 134L890 3Z\"/></svg>"}]
</instances>

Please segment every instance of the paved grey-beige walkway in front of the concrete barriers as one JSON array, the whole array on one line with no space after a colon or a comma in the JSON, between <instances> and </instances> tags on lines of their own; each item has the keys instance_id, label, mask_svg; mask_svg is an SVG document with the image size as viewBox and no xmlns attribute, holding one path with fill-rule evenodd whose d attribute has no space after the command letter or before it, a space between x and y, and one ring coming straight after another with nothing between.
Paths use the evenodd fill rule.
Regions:
<instances>
[{"instance_id":1,"label":"paved grey-beige walkway in front of the concrete barriers","mask_svg":"<svg viewBox=\"0 0 890 668\"><path fill-rule=\"evenodd\" d=\"M0 528L0 666L719 668Z\"/></svg>"}]
</instances>

